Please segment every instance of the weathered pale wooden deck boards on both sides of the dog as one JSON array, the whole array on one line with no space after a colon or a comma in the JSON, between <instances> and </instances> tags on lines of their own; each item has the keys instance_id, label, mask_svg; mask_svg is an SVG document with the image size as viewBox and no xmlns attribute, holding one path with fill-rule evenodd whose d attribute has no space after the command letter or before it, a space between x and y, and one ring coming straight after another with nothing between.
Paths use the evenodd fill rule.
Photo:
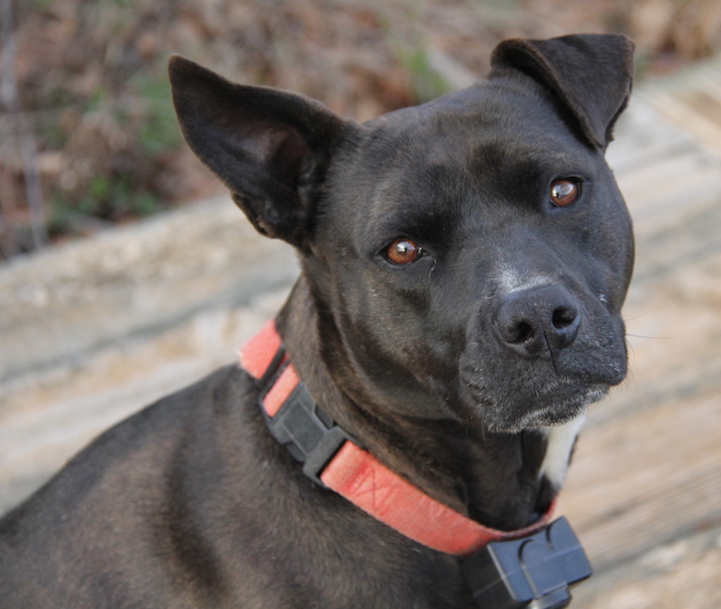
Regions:
<instances>
[{"instance_id":1,"label":"weathered pale wooden deck boards on both sides of the dog","mask_svg":"<svg viewBox=\"0 0 721 609\"><path fill-rule=\"evenodd\" d=\"M632 374L589 412L561 495L595 567L573 606L711 609L721 606L721 62L646 83L616 132L609 161L637 239ZM0 512L101 429L231 361L294 269L287 248L224 200L0 270Z\"/></svg>"}]
</instances>

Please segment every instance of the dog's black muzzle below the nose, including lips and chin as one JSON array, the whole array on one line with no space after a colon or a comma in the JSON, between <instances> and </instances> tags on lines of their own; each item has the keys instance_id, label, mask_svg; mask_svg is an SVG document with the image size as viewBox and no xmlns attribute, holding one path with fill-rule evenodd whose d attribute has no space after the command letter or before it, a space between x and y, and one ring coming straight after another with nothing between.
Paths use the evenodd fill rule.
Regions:
<instances>
[{"instance_id":1,"label":"dog's black muzzle below the nose, including lips and chin","mask_svg":"<svg viewBox=\"0 0 721 609\"><path fill-rule=\"evenodd\" d=\"M547 344L538 354L469 342L455 385L462 414L483 429L516 433L562 425L606 397L627 372L623 323L583 310L584 328L571 344Z\"/></svg>"}]
</instances>

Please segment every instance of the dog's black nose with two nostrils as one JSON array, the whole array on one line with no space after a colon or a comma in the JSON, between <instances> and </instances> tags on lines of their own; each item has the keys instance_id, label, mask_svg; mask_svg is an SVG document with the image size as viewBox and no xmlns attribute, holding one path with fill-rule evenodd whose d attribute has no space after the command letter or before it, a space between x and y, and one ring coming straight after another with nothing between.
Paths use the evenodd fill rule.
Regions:
<instances>
[{"instance_id":1,"label":"dog's black nose with two nostrils","mask_svg":"<svg viewBox=\"0 0 721 609\"><path fill-rule=\"evenodd\" d=\"M509 294L495 318L501 342L521 355L538 356L570 346L578 334L580 310L561 286Z\"/></svg>"}]
</instances>

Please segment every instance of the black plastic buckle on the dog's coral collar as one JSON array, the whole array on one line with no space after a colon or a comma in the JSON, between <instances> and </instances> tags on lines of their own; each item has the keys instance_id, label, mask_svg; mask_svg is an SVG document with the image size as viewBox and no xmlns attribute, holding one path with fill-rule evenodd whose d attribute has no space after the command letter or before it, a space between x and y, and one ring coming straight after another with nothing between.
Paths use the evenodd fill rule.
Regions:
<instances>
[{"instance_id":1,"label":"black plastic buckle on the dog's coral collar","mask_svg":"<svg viewBox=\"0 0 721 609\"><path fill-rule=\"evenodd\" d=\"M281 366L278 375L283 371ZM276 378L278 377L276 376ZM303 473L315 484L325 487L320 479L324 467L346 440L358 444L344 429L322 411L302 382L290 394L274 417L263 408L263 398L273 383L260 395L260 410L265 416L273 438L303 463Z\"/></svg>"}]
</instances>

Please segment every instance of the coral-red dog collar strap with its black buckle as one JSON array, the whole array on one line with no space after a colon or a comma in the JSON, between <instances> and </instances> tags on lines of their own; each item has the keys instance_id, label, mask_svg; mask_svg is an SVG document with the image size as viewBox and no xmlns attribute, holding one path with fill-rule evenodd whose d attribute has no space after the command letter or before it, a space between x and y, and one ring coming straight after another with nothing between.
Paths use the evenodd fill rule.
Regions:
<instances>
[{"instance_id":1,"label":"coral-red dog collar strap with its black buckle","mask_svg":"<svg viewBox=\"0 0 721 609\"><path fill-rule=\"evenodd\" d=\"M411 540L469 556L491 541L540 531L551 520L553 506L524 529L489 529L392 472L318 407L287 361L275 320L242 347L240 359L262 387L260 408L270 433L303 462L304 473Z\"/></svg>"}]
</instances>

